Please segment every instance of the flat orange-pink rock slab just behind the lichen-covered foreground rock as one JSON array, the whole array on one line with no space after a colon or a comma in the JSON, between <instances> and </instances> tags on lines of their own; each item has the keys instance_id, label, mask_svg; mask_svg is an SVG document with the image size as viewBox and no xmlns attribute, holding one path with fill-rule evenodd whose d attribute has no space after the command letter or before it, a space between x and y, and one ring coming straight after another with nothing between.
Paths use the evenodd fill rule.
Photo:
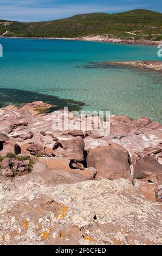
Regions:
<instances>
[{"instance_id":1,"label":"flat orange-pink rock slab just behind the lichen-covered foreground rock","mask_svg":"<svg viewBox=\"0 0 162 256\"><path fill-rule=\"evenodd\" d=\"M56 186L62 183L71 184L95 178L96 169L71 169L69 164L68 158L38 157L30 173L16 176L11 182L6 180L4 182L10 188L14 186L16 190L22 190L22 188ZM14 167L16 168L17 164ZM18 167L24 167L23 163ZM25 172L18 169L18 172L23 171Z\"/></svg>"}]
</instances>

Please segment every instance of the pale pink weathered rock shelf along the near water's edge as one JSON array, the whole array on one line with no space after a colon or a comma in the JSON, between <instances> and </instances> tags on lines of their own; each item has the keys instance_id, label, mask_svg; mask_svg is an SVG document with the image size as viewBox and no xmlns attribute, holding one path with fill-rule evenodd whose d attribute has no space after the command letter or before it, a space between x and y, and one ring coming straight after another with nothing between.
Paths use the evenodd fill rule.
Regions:
<instances>
[{"instance_id":1,"label":"pale pink weathered rock shelf along the near water's edge","mask_svg":"<svg viewBox=\"0 0 162 256\"><path fill-rule=\"evenodd\" d=\"M79 123L80 127L80 122L83 121L83 123L87 123L87 121L90 121L89 117L85 115L85 117L79 118L79 122L75 122L75 115L68 111L64 113L62 109L46 115L33 115L30 113L30 107L35 108L40 106L41 108L42 105L47 107L46 103L33 102L19 109L13 106L2 108L0 113L0 131L9 134L9 137L14 138L14 141L20 145L25 143L25 141L21 141L21 136L32 132L33 137L26 139L28 143L34 142L42 144L43 146L46 145L46 147L52 149L54 138L56 138L56 141L57 138L61 140L71 139L73 138L73 134L79 135L79 131L76 132L75 130L75 132L73 130L70 131L70 134L69 130L67 132L56 130L53 124L59 124L62 120L68 119L69 121L71 120L72 123ZM107 131L103 130L102 132L98 132L95 130L99 123L98 117L95 117L92 123L93 125L91 125L91 127L92 129L94 128L94 130L88 131L87 129L88 132L85 131L85 150L114 142L127 149L132 157L135 151L138 152L144 150L144 148L153 147L162 141L162 126L157 122L151 122L148 118L131 119L125 115L111 117L109 135L107 135ZM17 125L14 126L14 130L9 128L10 125L15 124ZM26 124L26 126L23 124ZM80 132L80 135L82 135L82 132Z\"/></svg>"}]
</instances>

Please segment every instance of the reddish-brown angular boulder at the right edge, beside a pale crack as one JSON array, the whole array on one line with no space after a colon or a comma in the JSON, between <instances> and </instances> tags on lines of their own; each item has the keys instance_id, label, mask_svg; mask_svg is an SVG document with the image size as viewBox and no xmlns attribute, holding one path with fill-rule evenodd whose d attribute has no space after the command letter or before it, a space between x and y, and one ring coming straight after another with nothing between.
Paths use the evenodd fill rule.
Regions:
<instances>
[{"instance_id":1,"label":"reddish-brown angular boulder at the right edge, beside a pale crack","mask_svg":"<svg viewBox=\"0 0 162 256\"><path fill-rule=\"evenodd\" d=\"M133 169L133 179L153 183L162 182L162 165L153 156L148 156L144 151L134 154Z\"/></svg>"}]
</instances>

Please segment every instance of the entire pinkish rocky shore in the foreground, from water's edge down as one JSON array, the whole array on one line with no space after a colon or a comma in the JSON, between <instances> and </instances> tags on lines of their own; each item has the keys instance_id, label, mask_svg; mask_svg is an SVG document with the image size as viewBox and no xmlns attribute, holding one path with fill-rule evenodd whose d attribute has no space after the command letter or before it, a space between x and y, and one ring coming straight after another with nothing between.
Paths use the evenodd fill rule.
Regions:
<instances>
[{"instance_id":1,"label":"entire pinkish rocky shore in the foreground, from water's edge down","mask_svg":"<svg viewBox=\"0 0 162 256\"><path fill-rule=\"evenodd\" d=\"M116 115L109 133L98 117L56 130L89 117L50 107L0 109L0 244L160 245L161 124Z\"/></svg>"}]
</instances>

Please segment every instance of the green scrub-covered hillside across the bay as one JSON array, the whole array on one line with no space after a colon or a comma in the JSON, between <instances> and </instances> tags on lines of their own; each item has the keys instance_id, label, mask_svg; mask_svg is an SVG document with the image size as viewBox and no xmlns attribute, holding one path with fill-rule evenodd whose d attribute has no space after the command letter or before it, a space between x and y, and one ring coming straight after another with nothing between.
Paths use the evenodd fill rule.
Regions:
<instances>
[{"instance_id":1,"label":"green scrub-covered hillside across the bay","mask_svg":"<svg viewBox=\"0 0 162 256\"><path fill-rule=\"evenodd\" d=\"M162 40L162 14L150 10L131 10L118 14L92 13L44 22L0 20L5 36L75 37L109 35L121 39Z\"/></svg>"}]
</instances>

